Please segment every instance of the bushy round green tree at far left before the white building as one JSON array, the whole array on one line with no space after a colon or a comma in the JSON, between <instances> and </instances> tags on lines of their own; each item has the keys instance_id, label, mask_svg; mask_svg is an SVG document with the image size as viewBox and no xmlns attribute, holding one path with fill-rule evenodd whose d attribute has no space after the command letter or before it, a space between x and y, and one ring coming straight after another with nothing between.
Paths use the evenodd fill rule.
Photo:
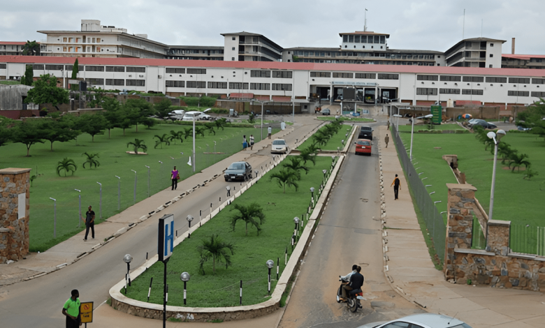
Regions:
<instances>
[{"instance_id":1,"label":"bushy round green tree at far left before the white building","mask_svg":"<svg viewBox=\"0 0 545 328\"><path fill-rule=\"evenodd\" d=\"M57 87L57 77L45 74L34 81L34 88L29 90L25 103L52 104L59 110L59 104L68 103L68 90Z\"/></svg>"}]
</instances>

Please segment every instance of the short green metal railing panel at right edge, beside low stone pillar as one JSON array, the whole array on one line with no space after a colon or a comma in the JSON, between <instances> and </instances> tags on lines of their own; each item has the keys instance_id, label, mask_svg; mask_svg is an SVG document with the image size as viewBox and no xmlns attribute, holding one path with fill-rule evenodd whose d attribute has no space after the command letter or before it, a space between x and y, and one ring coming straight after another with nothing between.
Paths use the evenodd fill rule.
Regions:
<instances>
[{"instance_id":1,"label":"short green metal railing panel at right edge, beside low stone pillar","mask_svg":"<svg viewBox=\"0 0 545 328\"><path fill-rule=\"evenodd\" d=\"M511 223L509 248L515 253L545 256L545 227Z\"/></svg>"}]
</instances>

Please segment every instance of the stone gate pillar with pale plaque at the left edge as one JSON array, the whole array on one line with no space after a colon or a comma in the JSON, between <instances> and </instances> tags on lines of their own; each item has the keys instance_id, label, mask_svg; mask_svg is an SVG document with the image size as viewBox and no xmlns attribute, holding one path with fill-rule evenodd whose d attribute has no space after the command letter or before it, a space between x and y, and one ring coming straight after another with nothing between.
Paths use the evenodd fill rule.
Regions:
<instances>
[{"instance_id":1,"label":"stone gate pillar with pale plaque at the left edge","mask_svg":"<svg viewBox=\"0 0 545 328\"><path fill-rule=\"evenodd\" d=\"M0 170L0 263L29 253L30 169Z\"/></svg>"}]
</instances>

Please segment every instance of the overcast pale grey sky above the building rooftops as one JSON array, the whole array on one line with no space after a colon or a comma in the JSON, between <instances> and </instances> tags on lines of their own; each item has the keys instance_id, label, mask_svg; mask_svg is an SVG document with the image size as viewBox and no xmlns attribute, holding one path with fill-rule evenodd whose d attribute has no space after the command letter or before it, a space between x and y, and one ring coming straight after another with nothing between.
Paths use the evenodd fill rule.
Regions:
<instances>
[{"instance_id":1,"label":"overcast pale grey sky above the building rooftops","mask_svg":"<svg viewBox=\"0 0 545 328\"><path fill-rule=\"evenodd\" d=\"M391 49L446 51L465 38L506 40L503 53L545 54L543 0L0 0L0 40L79 31L82 19L147 33L167 45L224 45L220 33L260 33L282 47L338 47L340 32L389 33ZM465 32L463 21L465 9Z\"/></svg>"}]
</instances>

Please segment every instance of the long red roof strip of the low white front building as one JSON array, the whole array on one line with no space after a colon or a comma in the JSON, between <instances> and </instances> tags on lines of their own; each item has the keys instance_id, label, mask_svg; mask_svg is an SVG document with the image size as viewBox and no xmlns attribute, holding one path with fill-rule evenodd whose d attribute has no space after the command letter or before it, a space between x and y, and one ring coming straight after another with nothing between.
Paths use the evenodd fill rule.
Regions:
<instances>
[{"instance_id":1,"label":"long red roof strip of the low white front building","mask_svg":"<svg viewBox=\"0 0 545 328\"><path fill-rule=\"evenodd\" d=\"M46 56L0 56L0 63L22 64L74 64L75 57ZM535 76L545 77L545 71L528 68L477 68L454 66L416 66L416 65L368 65L368 64L326 64L326 63L286 63L280 61L203 61L182 59L145 58L101 58L78 57L80 65L126 65L163 66L196 68L249 68L273 70L329 70L348 72L377 73L418 73L450 75L497 75L497 76Z\"/></svg>"}]
</instances>

